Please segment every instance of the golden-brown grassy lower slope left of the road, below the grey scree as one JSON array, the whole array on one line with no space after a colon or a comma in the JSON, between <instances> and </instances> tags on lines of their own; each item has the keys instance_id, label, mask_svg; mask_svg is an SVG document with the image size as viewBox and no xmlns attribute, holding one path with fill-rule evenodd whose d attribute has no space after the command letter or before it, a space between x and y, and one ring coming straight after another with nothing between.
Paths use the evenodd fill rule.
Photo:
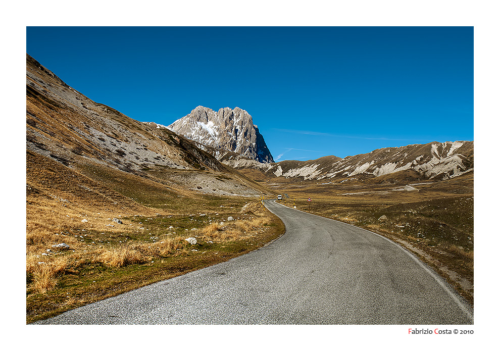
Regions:
<instances>
[{"instance_id":1,"label":"golden-brown grassy lower slope left of the road, below the grey scree","mask_svg":"<svg viewBox=\"0 0 500 351\"><path fill-rule=\"evenodd\" d=\"M27 322L226 261L284 232L252 197L168 187L102 165L69 169L32 152L26 175ZM60 243L69 248L53 247Z\"/></svg>"}]
</instances>

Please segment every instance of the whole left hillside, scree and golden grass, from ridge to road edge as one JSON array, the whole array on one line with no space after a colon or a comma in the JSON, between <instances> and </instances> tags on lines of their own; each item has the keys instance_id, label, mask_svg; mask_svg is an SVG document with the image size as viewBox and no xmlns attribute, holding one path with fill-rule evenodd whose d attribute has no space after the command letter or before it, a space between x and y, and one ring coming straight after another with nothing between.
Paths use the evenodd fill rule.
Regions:
<instances>
[{"instance_id":1,"label":"whole left hillside, scree and golden grass, from ridge to road edge","mask_svg":"<svg viewBox=\"0 0 500 351\"><path fill-rule=\"evenodd\" d=\"M27 322L264 245L284 228L261 193L272 191L26 57Z\"/></svg>"}]
</instances>

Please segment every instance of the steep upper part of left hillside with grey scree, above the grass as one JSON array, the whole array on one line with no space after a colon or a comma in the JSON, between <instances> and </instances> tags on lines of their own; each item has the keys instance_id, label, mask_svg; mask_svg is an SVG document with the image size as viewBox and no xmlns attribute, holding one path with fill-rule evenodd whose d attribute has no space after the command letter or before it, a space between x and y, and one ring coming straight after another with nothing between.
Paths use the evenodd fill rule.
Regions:
<instances>
[{"instance_id":1,"label":"steep upper part of left hillside with grey scree, above the grass","mask_svg":"<svg viewBox=\"0 0 500 351\"><path fill-rule=\"evenodd\" d=\"M153 177L151 170L231 174L235 185L245 184L242 195L257 195L261 190L252 189L256 185L253 181L193 141L91 101L29 55L26 151L72 169L96 164L155 181L161 179ZM185 185L191 188L191 182ZM233 187L237 195L238 187ZM198 187L194 190L204 192Z\"/></svg>"}]
</instances>

